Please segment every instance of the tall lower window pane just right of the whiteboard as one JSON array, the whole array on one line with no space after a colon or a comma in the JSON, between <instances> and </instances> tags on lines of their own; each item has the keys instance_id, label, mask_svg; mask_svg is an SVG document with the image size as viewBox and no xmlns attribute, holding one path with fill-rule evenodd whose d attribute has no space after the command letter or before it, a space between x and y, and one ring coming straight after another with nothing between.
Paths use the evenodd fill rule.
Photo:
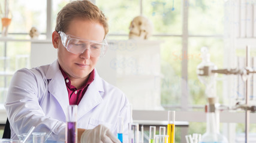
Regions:
<instances>
[{"instance_id":1,"label":"tall lower window pane just right of the whiteboard","mask_svg":"<svg viewBox=\"0 0 256 143\"><path fill-rule=\"evenodd\" d=\"M161 44L161 104L180 105L181 94L181 38L156 38Z\"/></svg>"}]
</instances>

